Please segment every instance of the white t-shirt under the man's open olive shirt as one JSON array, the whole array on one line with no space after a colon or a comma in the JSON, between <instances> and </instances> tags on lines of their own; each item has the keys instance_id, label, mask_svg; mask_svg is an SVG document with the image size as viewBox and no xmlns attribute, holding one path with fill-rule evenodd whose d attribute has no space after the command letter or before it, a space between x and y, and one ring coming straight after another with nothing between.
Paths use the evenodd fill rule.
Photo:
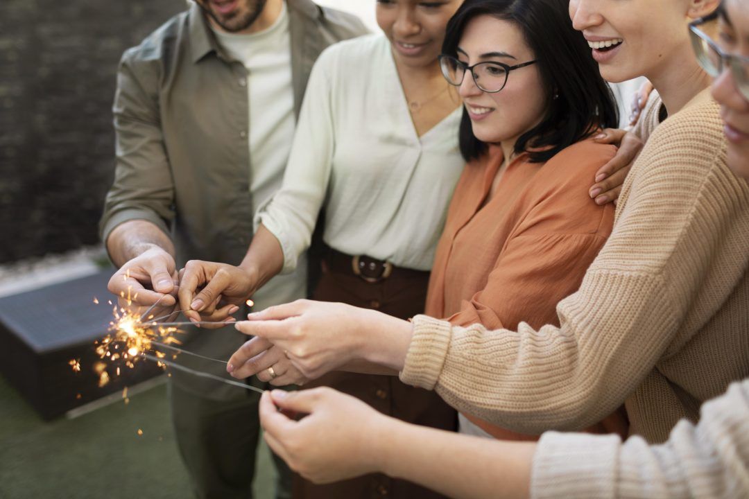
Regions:
<instances>
[{"instance_id":1,"label":"white t-shirt under the man's open olive shirt","mask_svg":"<svg viewBox=\"0 0 749 499\"><path fill-rule=\"evenodd\" d=\"M285 2L279 18L264 31L233 34L213 29L228 57L247 70L249 108L249 189L252 212L281 187L294 138L291 33ZM291 275L279 275L255 293L255 310L306 296L306 254Z\"/></svg>"}]
</instances>

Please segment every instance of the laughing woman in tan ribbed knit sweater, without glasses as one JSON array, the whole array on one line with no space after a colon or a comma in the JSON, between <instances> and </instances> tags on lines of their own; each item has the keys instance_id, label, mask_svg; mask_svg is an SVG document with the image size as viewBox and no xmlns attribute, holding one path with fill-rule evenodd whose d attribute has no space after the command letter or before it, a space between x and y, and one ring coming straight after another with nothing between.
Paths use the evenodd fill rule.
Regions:
<instances>
[{"instance_id":1,"label":"laughing woman in tan ribbed knit sweater, without glasses","mask_svg":"<svg viewBox=\"0 0 749 499\"><path fill-rule=\"evenodd\" d=\"M272 340L307 376L377 364L516 432L581 429L622 402L630 434L649 443L682 418L697 421L701 403L749 376L749 186L727 168L724 123L685 22L717 6L570 3L602 76L647 76L660 96L643 114L646 147L613 232L580 290L557 305L559 327L409 323L302 301L237 328Z\"/></svg>"}]
</instances>

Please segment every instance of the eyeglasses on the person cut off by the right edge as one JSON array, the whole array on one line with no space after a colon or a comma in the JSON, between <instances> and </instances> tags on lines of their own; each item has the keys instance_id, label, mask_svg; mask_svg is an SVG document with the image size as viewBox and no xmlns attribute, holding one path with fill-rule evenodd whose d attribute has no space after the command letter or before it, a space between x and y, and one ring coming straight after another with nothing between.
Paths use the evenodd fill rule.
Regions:
<instances>
[{"instance_id":1,"label":"eyeglasses on the person cut off by the right edge","mask_svg":"<svg viewBox=\"0 0 749 499\"><path fill-rule=\"evenodd\" d=\"M749 100L749 58L742 55L727 54L710 38L700 26L718 19L718 13L697 19L689 23L689 34L692 40L697 62L713 78L718 78L726 68L730 68L733 81L739 92Z\"/></svg>"}]
</instances>

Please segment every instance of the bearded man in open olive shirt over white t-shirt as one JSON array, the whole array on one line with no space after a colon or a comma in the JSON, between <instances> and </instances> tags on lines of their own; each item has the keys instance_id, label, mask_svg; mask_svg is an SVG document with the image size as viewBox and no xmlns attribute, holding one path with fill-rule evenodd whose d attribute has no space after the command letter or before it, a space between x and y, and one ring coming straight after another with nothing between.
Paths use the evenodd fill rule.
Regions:
<instances>
[{"instance_id":1,"label":"bearded man in open olive shirt over white t-shirt","mask_svg":"<svg viewBox=\"0 0 749 499\"><path fill-rule=\"evenodd\" d=\"M331 43L365 32L354 16L309 0L199 0L125 52L113 108L115 182L100 226L121 267L112 293L132 287L136 304L160 300L154 313L171 311L178 266L240 263L254 208L280 186L312 64ZM259 301L299 298L302 272ZM233 328L202 331L192 331L187 348L213 358L246 340ZM199 368L225 375L221 364ZM180 373L170 396L196 495L252 497L258 397ZM288 481L279 485L287 497Z\"/></svg>"}]
</instances>

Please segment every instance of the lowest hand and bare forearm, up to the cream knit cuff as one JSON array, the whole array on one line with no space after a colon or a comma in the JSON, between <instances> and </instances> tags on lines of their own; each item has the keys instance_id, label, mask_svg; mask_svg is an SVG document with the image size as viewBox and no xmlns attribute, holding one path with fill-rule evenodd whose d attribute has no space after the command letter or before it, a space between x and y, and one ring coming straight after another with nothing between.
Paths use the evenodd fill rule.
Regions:
<instances>
[{"instance_id":1,"label":"lowest hand and bare forearm, up to the cream knit cuff","mask_svg":"<svg viewBox=\"0 0 749 499\"><path fill-rule=\"evenodd\" d=\"M273 452L315 483L380 472L450 498L515 499L530 492L536 442L404 423L330 388L265 392L260 421Z\"/></svg>"}]
</instances>

